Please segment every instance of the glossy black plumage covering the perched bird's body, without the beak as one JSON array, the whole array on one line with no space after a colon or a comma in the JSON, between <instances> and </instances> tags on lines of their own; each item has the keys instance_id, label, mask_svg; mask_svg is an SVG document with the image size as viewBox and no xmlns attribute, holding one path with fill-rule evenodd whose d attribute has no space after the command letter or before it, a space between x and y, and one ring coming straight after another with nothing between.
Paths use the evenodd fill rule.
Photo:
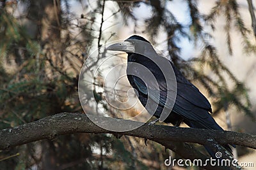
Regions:
<instances>
[{"instance_id":1,"label":"glossy black plumage covering the perched bird's body, without the beak","mask_svg":"<svg viewBox=\"0 0 256 170\"><path fill-rule=\"evenodd\" d=\"M129 39L138 39L149 43L146 39L141 36L131 36ZM161 57L161 56L159 56ZM129 64L131 62L131 64ZM156 77L157 82L150 81L147 83L147 86L141 80L141 77L144 75L141 73L136 73L138 76L127 74L128 80L131 83L132 87L138 91L138 98L140 99L141 104L145 106L147 104L148 98L157 102L156 96L154 96L154 90L156 83L159 85L160 90L160 99L156 112L152 113L155 117L159 118L161 112L165 107L168 108L168 103L166 103L166 80L161 69L148 57L140 55L138 53L128 53L128 64L127 70L132 70L134 73L138 70L136 66L133 66L132 62L142 64L151 71L152 74ZM170 115L164 120L166 123L172 123L173 125L180 125L180 122L184 122L189 127L198 128L198 129L216 129L223 131L223 129L218 125L215 120L211 117L212 113L211 104L206 99L206 97L193 85L189 82L180 71L172 64L172 62L166 59L166 62L170 62L173 67L173 71L177 80L177 97L175 99L175 104L172 108ZM151 90L151 96L148 96L148 92ZM148 111L150 112L150 111ZM210 113L209 113L210 112ZM232 153L228 145L224 146L228 152Z\"/></svg>"}]
</instances>

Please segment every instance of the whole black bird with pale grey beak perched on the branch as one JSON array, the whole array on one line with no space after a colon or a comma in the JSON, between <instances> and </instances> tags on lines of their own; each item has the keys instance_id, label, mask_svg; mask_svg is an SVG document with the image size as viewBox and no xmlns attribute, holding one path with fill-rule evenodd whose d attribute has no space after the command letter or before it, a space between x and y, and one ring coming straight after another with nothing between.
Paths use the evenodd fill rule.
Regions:
<instances>
[{"instance_id":1,"label":"whole black bird with pale grey beak perched on the branch","mask_svg":"<svg viewBox=\"0 0 256 170\"><path fill-rule=\"evenodd\" d=\"M139 43L134 43L134 41ZM140 43L141 42L141 43ZM223 129L218 125L215 120L211 117L212 113L211 104L206 99L206 97L189 82L180 71L173 65L173 63L159 55L145 38L141 36L131 36L122 43L116 43L107 48L107 50L122 51L128 54L127 57L127 78L131 83L131 86L137 90L137 96L140 99L141 104L145 107L148 99L157 102L156 111L154 111L154 116L157 118L161 117L163 108L168 108L166 100L168 96L166 92L168 91L167 83L168 79L164 77L164 73L161 71L161 66L163 63L168 63L172 67L176 82L177 82L177 95L175 97L175 103L170 106L170 114L165 118L164 122L172 123L175 126L179 126L181 122L184 122L189 127L197 129L216 129L223 131ZM152 55L152 53L156 55ZM147 57L145 55L148 55ZM154 57L158 57L162 61L156 64ZM161 58L159 58L161 57ZM134 64L134 63L137 63ZM162 63L162 64L161 64ZM138 66L145 66L156 78L159 97L156 97L156 93L152 90L156 85L154 82L149 80L148 82L143 81L140 76L143 73L138 72ZM140 75L140 76L139 76ZM151 94L150 94L151 92ZM170 99L172 101L172 99ZM147 108L146 108L147 109ZM149 109L147 109L150 112ZM232 150L228 145L224 145L228 152L232 153ZM207 148L207 147L205 147ZM207 148L208 152L215 156L211 150Z\"/></svg>"}]
</instances>

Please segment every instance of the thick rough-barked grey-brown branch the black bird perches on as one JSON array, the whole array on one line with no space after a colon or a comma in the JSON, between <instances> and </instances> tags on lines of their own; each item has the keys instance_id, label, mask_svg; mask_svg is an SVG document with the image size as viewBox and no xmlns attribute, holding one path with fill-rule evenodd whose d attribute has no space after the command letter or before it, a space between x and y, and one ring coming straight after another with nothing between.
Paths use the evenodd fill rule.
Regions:
<instances>
[{"instance_id":1,"label":"thick rough-barked grey-brown branch the black bird perches on","mask_svg":"<svg viewBox=\"0 0 256 170\"><path fill-rule=\"evenodd\" d=\"M127 132L112 132L100 128L91 120L93 120L93 122L102 122L102 124L113 124L117 126L116 128L118 128L118 126L123 127L124 125L134 127L138 126L138 124L141 124L142 126L138 129ZM60 135L74 134L77 132L122 134L147 138L160 143L166 148L170 148L174 152L177 152L184 159L190 160L205 160L209 159L209 157L198 152L188 143L183 142L198 143L200 145L209 146L208 144L212 141L219 144L234 144L254 149L256 148L256 136L253 134L244 134L230 131L216 131L209 129L171 127L166 125L143 125L140 122L107 117L92 117L91 120L85 114L81 113L59 113L50 117L42 118L35 122L19 125L18 127L3 129L0 131L0 149L6 150L13 146L38 141L40 139L54 139ZM212 148L214 147L216 147L216 145L213 143ZM230 155L225 155L225 153L223 153L222 158L225 159L229 156ZM202 167L206 169L216 169L216 167L211 167L210 165ZM239 168L218 167L217 169Z\"/></svg>"}]
</instances>

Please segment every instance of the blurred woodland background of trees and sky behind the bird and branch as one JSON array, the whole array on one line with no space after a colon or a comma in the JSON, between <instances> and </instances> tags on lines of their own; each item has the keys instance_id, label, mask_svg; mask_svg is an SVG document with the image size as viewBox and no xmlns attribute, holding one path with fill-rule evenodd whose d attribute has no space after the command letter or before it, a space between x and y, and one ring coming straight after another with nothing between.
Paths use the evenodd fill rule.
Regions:
<instances>
[{"instance_id":1,"label":"blurred woodland background of trees and sky behind the bird and branch","mask_svg":"<svg viewBox=\"0 0 256 170\"><path fill-rule=\"evenodd\" d=\"M116 0L0 1L0 129L67 112L118 117L138 114L109 106L104 93L108 69L99 69L81 108L77 85L102 62L106 44L138 34L148 39L207 96L213 117L225 130L256 134L255 1ZM91 55L97 52L97 55ZM92 74L93 76L93 74ZM125 78L124 78L125 79ZM121 88L122 87L122 88ZM123 89L120 90L120 89ZM88 93L86 93L88 92ZM115 100L115 99L113 99ZM96 104L93 103L96 101ZM122 112L122 113L120 113ZM182 125L185 126L185 125ZM195 145L205 153L204 147ZM207 154L207 153L205 153ZM110 134L72 134L0 151L0 169L199 169L166 167L179 155L152 141ZM239 162L253 162L255 150L237 146Z\"/></svg>"}]
</instances>

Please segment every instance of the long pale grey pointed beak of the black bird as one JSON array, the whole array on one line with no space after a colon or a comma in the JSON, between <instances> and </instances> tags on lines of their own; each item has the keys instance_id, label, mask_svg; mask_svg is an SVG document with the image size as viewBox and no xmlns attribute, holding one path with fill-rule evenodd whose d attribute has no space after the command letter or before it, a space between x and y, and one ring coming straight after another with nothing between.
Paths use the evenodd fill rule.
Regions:
<instances>
[{"instance_id":1,"label":"long pale grey pointed beak of the black bird","mask_svg":"<svg viewBox=\"0 0 256 170\"><path fill-rule=\"evenodd\" d=\"M116 43L108 46L106 50L122 51L122 52L135 52L135 46L131 42L124 41L122 43Z\"/></svg>"}]
</instances>

